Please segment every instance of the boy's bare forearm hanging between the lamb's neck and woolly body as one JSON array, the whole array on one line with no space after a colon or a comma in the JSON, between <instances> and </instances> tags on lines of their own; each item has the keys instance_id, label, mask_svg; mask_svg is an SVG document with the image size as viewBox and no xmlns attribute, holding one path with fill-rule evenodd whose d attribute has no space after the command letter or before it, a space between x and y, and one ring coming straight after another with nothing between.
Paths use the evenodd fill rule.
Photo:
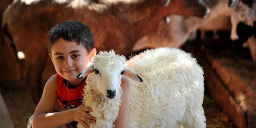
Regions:
<instances>
[{"instance_id":1,"label":"boy's bare forearm hanging between the lamb's neck and woolly body","mask_svg":"<svg viewBox=\"0 0 256 128\"><path fill-rule=\"evenodd\" d=\"M127 128L128 114L131 101L130 85L128 79L122 78L121 82L123 94L121 96L122 102L118 112L118 117L114 122L115 128Z\"/></svg>"}]
</instances>

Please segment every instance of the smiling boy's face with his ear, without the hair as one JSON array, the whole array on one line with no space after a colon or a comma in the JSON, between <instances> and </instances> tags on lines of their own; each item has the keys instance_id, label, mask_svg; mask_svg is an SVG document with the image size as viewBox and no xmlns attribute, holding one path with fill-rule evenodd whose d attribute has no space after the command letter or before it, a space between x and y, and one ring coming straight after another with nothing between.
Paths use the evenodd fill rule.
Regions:
<instances>
[{"instance_id":1,"label":"smiling boy's face with his ear, without the hair","mask_svg":"<svg viewBox=\"0 0 256 128\"><path fill-rule=\"evenodd\" d=\"M88 53L83 45L60 38L52 45L50 57L57 73L70 84L79 84L82 79L76 76L87 67L96 50Z\"/></svg>"}]
</instances>

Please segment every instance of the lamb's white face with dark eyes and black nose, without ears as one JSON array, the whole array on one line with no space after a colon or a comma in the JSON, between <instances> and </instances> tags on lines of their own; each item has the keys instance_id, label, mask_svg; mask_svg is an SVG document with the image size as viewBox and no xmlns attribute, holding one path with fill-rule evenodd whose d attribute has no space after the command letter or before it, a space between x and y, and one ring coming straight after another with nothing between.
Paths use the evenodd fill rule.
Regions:
<instances>
[{"instance_id":1,"label":"lamb's white face with dark eyes and black nose, without ears","mask_svg":"<svg viewBox=\"0 0 256 128\"><path fill-rule=\"evenodd\" d=\"M99 92L109 98L115 98L121 84L125 66L120 61L94 64L96 86Z\"/></svg>"}]
</instances>

